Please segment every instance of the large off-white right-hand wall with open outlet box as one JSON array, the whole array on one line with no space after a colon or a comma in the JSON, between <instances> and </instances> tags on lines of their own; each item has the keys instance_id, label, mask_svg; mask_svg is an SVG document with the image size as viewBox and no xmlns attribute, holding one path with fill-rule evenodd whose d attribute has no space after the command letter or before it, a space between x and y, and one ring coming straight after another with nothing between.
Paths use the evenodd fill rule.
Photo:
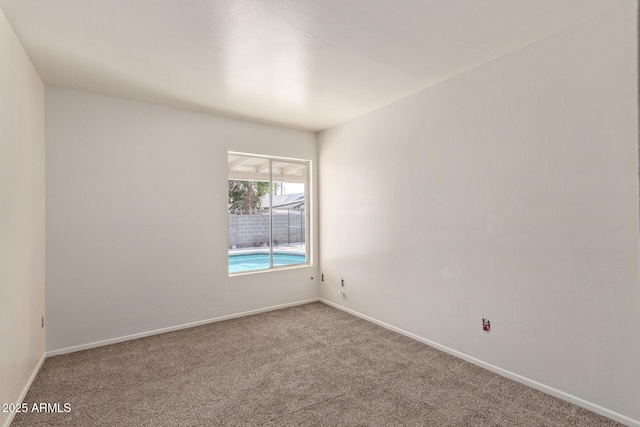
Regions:
<instances>
[{"instance_id":1,"label":"large off-white right-hand wall with open outlet box","mask_svg":"<svg viewBox=\"0 0 640 427\"><path fill-rule=\"evenodd\" d=\"M322 298L639 422L636 16L322 132Z\"/></svg>"}]
</instances>

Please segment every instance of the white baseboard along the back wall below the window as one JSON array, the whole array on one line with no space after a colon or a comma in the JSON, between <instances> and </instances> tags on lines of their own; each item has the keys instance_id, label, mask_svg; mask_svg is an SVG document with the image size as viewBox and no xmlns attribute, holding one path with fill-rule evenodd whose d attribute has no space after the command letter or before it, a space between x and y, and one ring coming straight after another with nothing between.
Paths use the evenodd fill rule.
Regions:
<instances>
[{"instance_id":1,"label":"white baseboard along the back wall below the window","mask_svg":"<svg viewBox=\"0 0 640 427\"><path fill-rule=\"evenodd\" d=\"M179 331L181 329L193 328L195 326L206 325L206 324L209 324L209 323L221 322L223 320L235 319L237 317L250 316L252 314L258 314L258 313L266 313L267 311L280 310L282 308L287 308L287 307L295 307L297 305L309 304L309 303L312 303L312 302L317 302L319 300L320 300L319 298L311 298L311 299L307 299L307 300L303 300L303 301L290 302L290 303L287 303L287 304L279 304L279 305L274 305L274 306L271 306L271 307L259 308L257 310L243 311L241 313L228 314L226 316L220 316L220 317L214 317L214 318L211 318L211 319L199 320L197 322L184 323L182 325L170 326L170 327L167 327L167 328L155 329L155 330L152 330L152 331L140 332L140 333L137 333L137 334L125 335L125 336L117 337L117 338L110 338L108 340L95 341L95 342L91 342L91 343L88 343L88 344L81 344L81 345L76 345L76 346L72 346L72 347L61 348L61 349L58 349L58 350L51 350L51 351L48 351L46 353L46 357L58 356L60 354L74 353L76 351L88 350L90 348L102 347L102 346L105 346L105 345L117 344L119 342L135 340L135 339L138 339L138 338L149 337L149 336L152 336L152 335L159 335L159 334L164 334L164 333L167 333L167 332Z\"/></svg>"}]
</instances>

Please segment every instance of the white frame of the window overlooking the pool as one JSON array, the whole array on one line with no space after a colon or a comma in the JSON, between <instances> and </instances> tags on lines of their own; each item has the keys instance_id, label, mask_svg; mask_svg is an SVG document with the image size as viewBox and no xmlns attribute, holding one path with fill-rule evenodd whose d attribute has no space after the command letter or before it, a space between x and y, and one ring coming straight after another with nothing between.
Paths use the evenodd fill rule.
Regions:
<instances>
[{"instance_id":1,"label":"white frame of the window overlooking the pool","mask_svg":"<svg viewBox=\"0 0 640 427\"><path fill-rule=\"evenodd\" d=\"M227 159L229 158L229 156L242 156L242 157L251 157L251 158L257 158L257 159L264 159L264 160L268 160L269 162L269 267L267 268L262 268L262 269L256 269L256 270L249 270L249 271L240 271L240 272L229 272L229 254L230 254L230 235L229 235L229 225L230 225L230 216L229 213L227 213L227 273L229 277L233 277L233 276L244 276L244 275L248 275L248 274L256 274L256 273L267 273L267 272L272 272L272 271L280 271L280 270L291 270L291 269L296 269L296 268L305 268L305 267L311 267L313 265L312 259L311 259L311 255L312 255L312 250L311 250L311 231L312 231L312 225L311 225L311 209L312 209L312 197L311 197L311 167L312 167L312 161L309 159L299 159L299 158L292 158L292 157L280 157L280 156L270 156L270 155L265 155L265 154L253 154L253 153L244 153L244 152L239 152L239 151L232 151L229 150L227 151ZM284 163L294 163L294 164L300 164L304 166L305 169L305 174L304 174L304 204L305 204L305 208L304 208L304 255L305 255L305 262L304 263L299 263L299 264L288 264L288 265L281 265L281 266L274 266L273 265L273 254L274 254L274 247L273 247L273 235L274 235L274 230L273 230L273 184L274 184L274 179L273 179L273 163L274 162L284 162ZM231 181L231 180L235 180L235 181L249 181L249 180L243 180L243 179L233 179L230 176L230 170L227 169L227 182ZM264 181L262 181L264 182ZM286 182L286 181L277 181L277 182Z\"/></svg>"}]
</instances>

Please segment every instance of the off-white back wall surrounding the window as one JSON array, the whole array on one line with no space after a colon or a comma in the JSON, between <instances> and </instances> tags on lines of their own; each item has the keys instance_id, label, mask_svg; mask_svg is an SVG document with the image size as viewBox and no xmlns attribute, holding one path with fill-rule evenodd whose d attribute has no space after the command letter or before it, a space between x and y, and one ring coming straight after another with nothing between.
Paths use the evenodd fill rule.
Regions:
<instances>
[{"instance_id":1,"label":"off-white back wall surrounding the window","mask_svg":"<svg viewBox=\"0 0 640 427\"><path fill-rule=\"evenodd\" d=\"M227 274L227 151L315 168L316 134L55 87L45 105L48 352L317 298L315 266Z\"/></svg>"}]
</instances>

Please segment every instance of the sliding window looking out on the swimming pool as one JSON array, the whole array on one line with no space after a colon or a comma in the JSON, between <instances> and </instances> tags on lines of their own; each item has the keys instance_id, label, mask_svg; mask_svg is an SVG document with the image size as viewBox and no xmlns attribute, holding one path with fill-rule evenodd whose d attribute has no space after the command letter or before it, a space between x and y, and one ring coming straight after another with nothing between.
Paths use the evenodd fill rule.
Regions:
<instances>
[{"instance_id":1,"label":"sliding window looking out on the swimming pool","mask_svg":"<svg viewBox=\"0 0 640 427\"><path fill-rule=\"evenodd\" d=\"M229 152L229 274L309 263L309 161Z\"/></svg>"}]
</instances>

